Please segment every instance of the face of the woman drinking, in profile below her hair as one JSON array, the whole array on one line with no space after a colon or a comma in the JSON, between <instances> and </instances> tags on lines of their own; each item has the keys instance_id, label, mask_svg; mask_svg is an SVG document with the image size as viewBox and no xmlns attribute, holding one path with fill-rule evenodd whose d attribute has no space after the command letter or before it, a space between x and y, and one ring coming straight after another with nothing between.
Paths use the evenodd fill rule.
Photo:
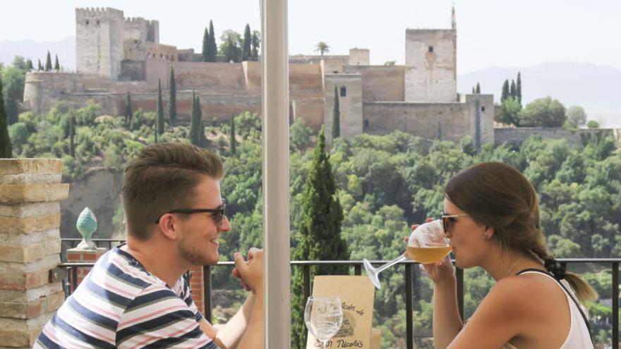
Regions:
<instances>
[{"instance_id":1,"label":"face of the woman drinking, in profile below her hair","mask_svg":"<svg viewBox=\"0 0 621 349\"><path fill-rule=\"evenodd\" d=\"M444 214L465 214L447 198L444 200ZM481 266L490 252L490 240L483 238L486 227L477 224L470 216L450 218L446 232L453 248L455 264L461 269Z\"/></svg>"}]
</instances>

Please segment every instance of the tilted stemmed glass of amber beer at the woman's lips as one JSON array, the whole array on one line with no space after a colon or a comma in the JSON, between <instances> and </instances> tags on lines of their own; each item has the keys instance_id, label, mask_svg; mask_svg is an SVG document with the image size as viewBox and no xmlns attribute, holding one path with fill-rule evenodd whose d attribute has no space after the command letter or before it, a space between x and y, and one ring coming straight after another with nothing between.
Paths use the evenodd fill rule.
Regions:
<instances>
[{"instance_id":1,"label":"tilted stemmed glass of amber beer at the woman's lips","mask_svg":"<svg viewBox=\"0 0 621 349\"><path fill-rule=\"evenodd\" d=\"M378 275L384 269L392 267L394 264L412 259L419 263L433 263L444 258L451 252L449 239L445 236L442 221L430 221L416 227L410 234L406 252L399 257L392 259L381 267L374 268L368 259L363 259L364 269L368 274L371 282L376 288L382 288Z\"/></svg>"}]
</instances>

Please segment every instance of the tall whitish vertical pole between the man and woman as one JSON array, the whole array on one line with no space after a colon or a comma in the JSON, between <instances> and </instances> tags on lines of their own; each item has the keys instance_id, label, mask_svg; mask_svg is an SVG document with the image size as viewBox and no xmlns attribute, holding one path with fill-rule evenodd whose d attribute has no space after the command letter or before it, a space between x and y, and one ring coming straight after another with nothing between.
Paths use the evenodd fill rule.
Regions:
<instances>
[{"instance_id":1,"label":"tall whitish vertical pole between the man and woman","mask_svg":"<svg viewBox=\"0 0 621 349\"><path fill-rule=\"evenodd\" d=\"M261 0L265 349L291 348L287 0Z\"/></svg>"}]
</instances>

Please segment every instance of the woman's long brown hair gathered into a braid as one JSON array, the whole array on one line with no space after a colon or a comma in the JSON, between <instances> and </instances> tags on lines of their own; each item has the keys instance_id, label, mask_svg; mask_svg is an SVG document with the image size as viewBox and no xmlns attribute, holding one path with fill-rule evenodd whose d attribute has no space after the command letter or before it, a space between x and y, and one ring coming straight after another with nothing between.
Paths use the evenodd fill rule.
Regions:
<instances>
[{"instance_id":1,"label":"woman's long brown hair gathered into a braid","mask_svg":"<svg viewBox=\"0 0 621 349\"><path fill-rule=\"evenodd\" d=\"M494 228L502 248L541 259L545 269L569 282L581 302L597 298L578 274L560 268L548 250L535 188L517 169L501 162L476 164L449 181L445 196L478 223Z\"/></svg>"}]
</instances>

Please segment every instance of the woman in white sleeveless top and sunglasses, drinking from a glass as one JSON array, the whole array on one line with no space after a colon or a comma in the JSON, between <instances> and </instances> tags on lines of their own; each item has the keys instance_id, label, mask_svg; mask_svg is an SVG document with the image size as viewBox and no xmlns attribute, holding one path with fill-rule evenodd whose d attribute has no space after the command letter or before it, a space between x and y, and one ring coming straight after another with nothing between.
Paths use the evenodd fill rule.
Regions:
<instances>
[{"instance_id":1,"label":"woman in white sleeveless top and sunglasses, drinking from a glass","mask_svg":"<svg viewBox=\"0 0 621 349\"><path fill-rule=\"evenodd\" d=\"M458 173L442 221L457 267L481 267L497 283L463 324L449 257L423 266L434 283L435 348L593 348L579 302L597 294L548 252L536 192L517 169L488 162Z\"/></svg>"}]
</instances>

